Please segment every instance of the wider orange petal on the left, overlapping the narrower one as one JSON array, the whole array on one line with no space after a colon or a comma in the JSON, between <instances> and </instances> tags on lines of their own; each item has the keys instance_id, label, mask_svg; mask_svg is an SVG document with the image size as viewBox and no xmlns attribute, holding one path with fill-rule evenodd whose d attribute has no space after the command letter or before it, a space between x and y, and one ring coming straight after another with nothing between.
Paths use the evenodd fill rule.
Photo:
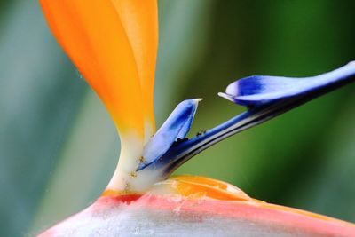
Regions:
<instances>
[{"instance_id":1,"label":"wider orange petal on the left, overlapping the narrower one","mask_svg":"<svg viewBox=\"0 0 355 237\"><path fill-rule=\"evenodd\" d=\"M111 0L41 0L54 35L99 94L120 133L143 138L144 110L136 57ZM133 11L133 10L132 10Z\"/></svg>"}]
</instances>

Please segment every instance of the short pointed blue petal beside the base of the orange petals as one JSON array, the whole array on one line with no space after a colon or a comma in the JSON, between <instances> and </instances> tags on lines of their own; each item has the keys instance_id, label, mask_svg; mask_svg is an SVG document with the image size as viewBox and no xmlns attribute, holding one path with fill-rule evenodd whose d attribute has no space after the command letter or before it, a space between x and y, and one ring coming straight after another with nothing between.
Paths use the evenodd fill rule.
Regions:
<instances>
[{"instance_id":1,"label":"short pointed blue petal beside the base of the orange petals","mask_svg":"<svg viewBox=\"0 0 355 237\"><path fill-rule=\"evenodd\" d=\"M185 138L201 99L187 99L177 105L162 127L149 140L143 150L143 161L138 170L159 159L178 139Z\"/></svg>"}]
</instances>

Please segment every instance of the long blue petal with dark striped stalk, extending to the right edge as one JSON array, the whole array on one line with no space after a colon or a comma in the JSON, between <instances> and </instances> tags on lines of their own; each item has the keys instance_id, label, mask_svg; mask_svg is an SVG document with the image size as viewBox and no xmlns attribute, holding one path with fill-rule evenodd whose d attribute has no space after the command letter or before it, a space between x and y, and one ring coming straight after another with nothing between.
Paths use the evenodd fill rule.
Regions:
<instances>
[{"instance_id":1,"label":"long blue petal with dark striped stalk, extending to the right edge","mask_svg":"<svg viewBox=\"0 0 355 237\"><path fill-rule=\"evenodd\" d=\"M180 165L209 146L354 81L355 62L333 72L304 79L276 76L250 76L241 79L229 85L227 93L222 93L221 96L247 106L248 110L203 134L172 144L146 170L139 171L154 172L161 180L168 178Z\"/></svg>"}]
</instances>

